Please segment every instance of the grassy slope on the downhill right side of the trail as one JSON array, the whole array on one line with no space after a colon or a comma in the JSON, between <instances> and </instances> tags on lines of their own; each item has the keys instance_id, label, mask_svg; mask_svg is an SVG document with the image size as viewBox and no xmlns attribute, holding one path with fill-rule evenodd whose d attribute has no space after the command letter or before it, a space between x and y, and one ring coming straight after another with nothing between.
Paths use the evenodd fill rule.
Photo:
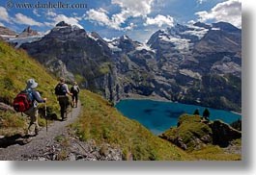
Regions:
<instances>
[{"instance_id":1,"label":"grassy slope on the downhill right side of the trail","mask_svg":"<svg viewBox=\"0 0 256 175\"><path fill-rule=\"evenodd\" d=\"M90 91L81 91L83 111L72 124L81 140L95 139L98 144L107 142L120 146L123 159L128 160L191 160L182 149L153 135L135 120L123 116L108 101Z\"/></svg>"}]
</instances>

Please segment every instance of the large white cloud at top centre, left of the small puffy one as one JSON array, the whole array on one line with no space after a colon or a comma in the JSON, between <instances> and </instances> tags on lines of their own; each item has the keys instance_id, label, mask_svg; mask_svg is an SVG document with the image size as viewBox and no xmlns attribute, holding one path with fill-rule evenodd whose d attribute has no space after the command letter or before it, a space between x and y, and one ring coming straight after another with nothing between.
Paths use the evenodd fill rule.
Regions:
<instances>
[{"instance_id":1,"label":"large white cloud at top centre, left of the small puffy one","mask_svg":"<svg viewBox=\"0 0 256 175\"><path fill-rule=\"evenodd\" d=\"M127 24L127 26L122 25L127 22L129 17L146 18L147 14L152 11L153 0L111 0L111 4L118 5L121 12L108 16L108 12L101 8L99 10L91 9L86 13L85 19L116 30L131 30L135 26L133 23Z\"/></svg>"}]
</instances>

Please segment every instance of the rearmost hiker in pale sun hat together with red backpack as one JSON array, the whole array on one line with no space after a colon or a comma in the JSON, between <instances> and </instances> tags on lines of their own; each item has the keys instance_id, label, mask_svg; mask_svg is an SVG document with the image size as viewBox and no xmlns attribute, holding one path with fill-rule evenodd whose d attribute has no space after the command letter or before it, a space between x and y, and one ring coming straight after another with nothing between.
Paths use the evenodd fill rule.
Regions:
<instances>
[{"instance_id":1,"label":"rearmost hiker in pale sun hat together with red backpack","mask_svg":"<svg viewBox=\"0 0 256 175\"><path fill-rule=\"evenodd\" d=\"M38 83L34 79L27 80L27 87L19 92L14 98L14 110L16 112L24 112L30 116L30 124L28 127L29 136L37 136L39 134L38 123L38 103L45 103L46 98L42 98L39 91L36 90ZM34 135L32 127L34 128Z\"/></svg>"}]
</instances>

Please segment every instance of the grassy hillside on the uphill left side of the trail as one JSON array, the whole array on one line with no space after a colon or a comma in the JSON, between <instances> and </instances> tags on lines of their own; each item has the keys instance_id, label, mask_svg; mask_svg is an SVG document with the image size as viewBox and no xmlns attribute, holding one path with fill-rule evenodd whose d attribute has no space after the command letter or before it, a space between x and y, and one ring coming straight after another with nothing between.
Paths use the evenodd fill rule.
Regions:
<instances>
[{"instance_id":1,"label":"grassy hillside on the uphill left side of the trail","mask_svg":"<svg viewBox=\"0 0 256 175\"><path fill-rule=\"evenodd\" d=\"M58 111L53 89L57 81L25 51L15 50L7 43L0 42L0 101L12 105L15 95L26 87L26 80L34 78L39 83L37 89L48 99L48 113ZM40 104L43 112L43 104ZM20 113L0 111L0 135L22 133L26 129L26 118ZM43 125L44 120L40 119Z\"/></svg>"}]
</instances>

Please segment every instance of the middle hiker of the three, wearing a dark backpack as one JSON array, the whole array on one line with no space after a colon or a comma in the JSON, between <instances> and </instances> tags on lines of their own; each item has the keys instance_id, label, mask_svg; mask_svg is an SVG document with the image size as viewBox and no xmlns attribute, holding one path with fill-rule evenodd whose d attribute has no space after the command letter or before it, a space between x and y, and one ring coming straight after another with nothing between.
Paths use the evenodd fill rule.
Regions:
<instances>
[{"instance_id":1,"label":"middle hiker of the three, wearing a dark backpack","mask_svg":"<svg viewBox=\"0 0 256 175\"><path fill-rule=\"evenodd\" d=\"M67 119L67 109L70 105L69 96L67 96L67 94L72 95L68 85L65 82L65 79L61 78L60 83L55 87L55 94L57 95L61 107L62 121Z\"/></svg>"}]
</instances>

